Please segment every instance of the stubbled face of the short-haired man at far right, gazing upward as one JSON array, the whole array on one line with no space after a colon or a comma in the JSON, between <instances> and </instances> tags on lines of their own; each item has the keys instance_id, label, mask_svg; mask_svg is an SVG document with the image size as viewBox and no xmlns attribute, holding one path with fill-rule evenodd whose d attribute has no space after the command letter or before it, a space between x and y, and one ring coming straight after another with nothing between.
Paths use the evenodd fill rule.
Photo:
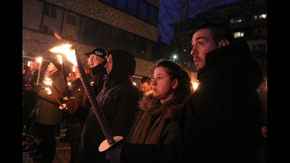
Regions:
<instances>
[{"instance_id":1,"label":"stubbled face of the short-haired man at far right, gazing upward","mask_svg":"<svg viewBox=\"0 0 290 163\"><path fill-rule=\"evenodd\" d=\"M190 53L194 56L194 64L197 71L206 64L205 54L219 48L219 45L213 41L209 29L201 29L195 32L192 36L191 44L192 50Z\"/></svg>"}]
</instances>

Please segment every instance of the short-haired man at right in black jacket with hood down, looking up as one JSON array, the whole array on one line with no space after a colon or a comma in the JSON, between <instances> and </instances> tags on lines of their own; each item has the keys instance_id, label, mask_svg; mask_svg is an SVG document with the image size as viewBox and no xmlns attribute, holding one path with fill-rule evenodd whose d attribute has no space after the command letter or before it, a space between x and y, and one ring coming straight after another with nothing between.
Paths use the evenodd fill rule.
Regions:
<instances>
[{"instance_id":1,"label":"short-haired man at right in black jacket with hood down, looking up","mask_svg":"<svg viewBox=\"0 0 290 163\"><path fill-rule=\"evenodd\" d=\"M226 25L202 25L191 43L199 85L181 111L177 142L118 142L107 150L111 163L256 162L261 67Z\"/></svg>"}]
</instances>

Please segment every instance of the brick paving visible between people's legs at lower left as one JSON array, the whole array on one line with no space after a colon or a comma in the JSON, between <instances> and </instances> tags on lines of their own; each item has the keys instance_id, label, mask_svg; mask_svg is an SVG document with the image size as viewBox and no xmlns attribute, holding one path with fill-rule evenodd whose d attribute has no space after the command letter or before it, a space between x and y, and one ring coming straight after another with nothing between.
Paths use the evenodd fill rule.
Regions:
<instances>
[{"instance_id":1,"label":"brick paving visible between people's legs at lower left","mask_svg":"<svg viewBox=\"0 0 290 163\"><path fill-rule=\"evenodd\" d=\"M70 145L69 142L60 142L59 138L65 136L65 133L60 133L59 137L55 137L57 140L57 148L55 151L55 157L52 163L68 163L70 161ZM22 142L23 144L24 142ZM28 155L29 152L22 152L22 163L31 163L33 161L33 157Z\"/></svg>"}]
</instances>

